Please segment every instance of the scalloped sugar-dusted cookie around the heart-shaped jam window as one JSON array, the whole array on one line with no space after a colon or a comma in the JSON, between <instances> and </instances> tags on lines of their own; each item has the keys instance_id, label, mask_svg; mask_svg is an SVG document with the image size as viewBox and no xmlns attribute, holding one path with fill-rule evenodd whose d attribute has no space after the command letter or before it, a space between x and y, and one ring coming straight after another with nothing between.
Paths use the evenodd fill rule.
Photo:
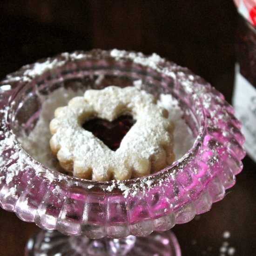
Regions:
<instances>
[{"instance_id":1,"label":"scalloped sugar-dusted cookie around the heart-shaped jam window","mask_svg":"<svg viewBox=\"0 0 256 256\"><path fill-rule=\"evenodd\" d=\"M82 128L92 118L113 121L127 114L136 122L116 151ZM61 166L74 176L99 181L130 179L159 171L175 159L174 125L167 110L156 104L153 95L135 87L87 90L84 97L74 97L54 115L50 147Z\"/></svg>"}]
</instances>

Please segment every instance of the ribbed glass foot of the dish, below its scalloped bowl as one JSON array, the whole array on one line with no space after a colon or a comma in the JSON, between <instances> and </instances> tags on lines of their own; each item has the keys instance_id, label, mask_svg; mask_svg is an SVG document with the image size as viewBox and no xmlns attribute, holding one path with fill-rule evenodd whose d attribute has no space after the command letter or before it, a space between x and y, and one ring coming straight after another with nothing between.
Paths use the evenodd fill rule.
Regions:
<instances>
[{"instance_id":1,"label":"ribbed glass foot of the dish, below its scalloped bowl","mask_svg":"<svg viewBox=\"0 0 256 256\"><path fill-rule=\"evenodd\" d=\"M25 256L181 256L173 232L153 232L148 236L123 239L90 239L65 236L58 231L40 230L26 246Z\"/></svg>"}]
</instances>

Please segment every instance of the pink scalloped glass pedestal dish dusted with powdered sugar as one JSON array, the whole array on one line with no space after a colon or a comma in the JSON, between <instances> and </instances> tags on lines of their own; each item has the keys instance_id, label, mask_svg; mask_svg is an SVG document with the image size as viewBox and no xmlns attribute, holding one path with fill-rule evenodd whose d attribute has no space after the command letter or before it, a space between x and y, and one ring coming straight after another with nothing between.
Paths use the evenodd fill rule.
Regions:
<instances>
[{"instance_id":1,"label":"pink scalloped glass pedestal dish dusted with powdered sugar","mask_svg":"<svg viewBox=\"0 0 256 256\"><path fill-rule=\"evenodd\" d=\"M157 98L172 94L184 110L195 144L171 166L143 178L96 182L49 169L20 145L20 135L38 121L41 95L47 97L61 87L85 91L133 86L134 81L141 81L141 89ZM241 122L223 95L187 68L156 54L93 50L22 67L0 84L0 120L0 206L42 229L66 235L41 231L28 243L27 255L49 249L58 239L52 254L46 255L61 253L61 241L79 248L74 255L86 255L86 244L103 246L112 255L125 255L125 250L136 255L134 242L141 241L140 246L143 239L160 241L159 255L180 255L172 233L159 231L189 222L221 200L235 184L245 155ZM174 253L165 253L164 245ZM118 248L122 252L114 254ZM90 253L97 255L97 250Z\"/></svg>"}]
</instances>

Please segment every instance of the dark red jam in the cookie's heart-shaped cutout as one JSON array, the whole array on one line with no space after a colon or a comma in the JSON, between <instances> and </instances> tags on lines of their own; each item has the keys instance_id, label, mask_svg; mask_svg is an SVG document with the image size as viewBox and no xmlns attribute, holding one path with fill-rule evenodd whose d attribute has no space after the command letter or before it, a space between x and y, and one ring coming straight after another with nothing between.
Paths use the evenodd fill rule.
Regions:
<instances>
[{"instance_id":1,"label":"dark red jam in the cookie's heart-shaped cutout","mask_svg":"<svg viewBox=\"0 0 256 256\"><path fill-rule=\"evenodd\" d=\"M86 121L82 127L100 139L108 148L116 151L120 147L123 137L135 122L132 116L121 115L112 122L94 118Z\"/></svg>"}]
</instances>

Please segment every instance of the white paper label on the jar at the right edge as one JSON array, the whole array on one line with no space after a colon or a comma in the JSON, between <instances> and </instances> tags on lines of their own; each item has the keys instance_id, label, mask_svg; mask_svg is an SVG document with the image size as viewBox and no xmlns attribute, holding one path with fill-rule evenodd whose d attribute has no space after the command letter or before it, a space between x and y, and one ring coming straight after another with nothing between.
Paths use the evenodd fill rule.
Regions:
<instances>
[{"instance_id":1,"label":"white paper label on the jar at the right edge","mask_svg":"<svg viewBox=\"0 0 256 256\"><path fill-rule=\"evenodd\" d=\"M233 106L236 117L242 121L245 149L256 162L256 88L247 81L236 66Z\"/></svg>"}]
</instances>

